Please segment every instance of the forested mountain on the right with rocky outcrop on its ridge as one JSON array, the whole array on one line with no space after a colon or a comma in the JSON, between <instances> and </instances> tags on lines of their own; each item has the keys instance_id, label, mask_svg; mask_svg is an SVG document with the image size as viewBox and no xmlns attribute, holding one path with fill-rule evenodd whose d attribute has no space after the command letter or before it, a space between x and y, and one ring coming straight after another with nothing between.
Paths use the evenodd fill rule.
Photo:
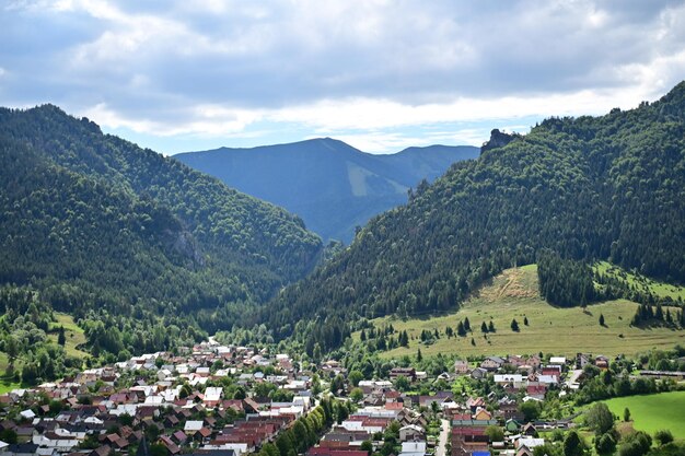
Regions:
<instances>
[{"instance_id":1,"label":"forested mountain on the right with rocky outcrop on its ridge","mask_svg":"<svg viewBox=\"0 0 685 456\"><path fill-rule=\"evenodd\" d=\"M492 137L255 320L327 350L361 317L455 309L543 250L685 282L685 83L628 112Z\"/></svg>"}]
</instances>

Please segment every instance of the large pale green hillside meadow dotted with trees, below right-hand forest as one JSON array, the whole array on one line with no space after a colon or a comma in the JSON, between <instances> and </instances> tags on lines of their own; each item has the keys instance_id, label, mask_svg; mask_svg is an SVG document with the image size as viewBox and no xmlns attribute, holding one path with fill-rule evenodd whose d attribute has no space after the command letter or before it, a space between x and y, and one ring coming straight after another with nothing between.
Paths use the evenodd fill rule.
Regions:
<instances>
[{"instance_id":1,"label":"large pale green hillside meadow dotted with trees, below right-hand forest","mask_svg":"<svg viewBox=\"0 0 685 456\"><path fill-rule=\"evenodd\" d=\"M630 319L637 304L618 300L580 307L554 307L539 297L537 291L537 269L535 265L508 269L480 292L469 299L456 313L430 318L402 320L396 317L378 318L373 323L383 327L392 323L395 330L406 330L409 336L408 348L397 348L382 353L384 358L414 355L421 349L423 355L458 354L487 355L509 353L555 353L574 355L577 352L616 355L635 354L651 348L670 349L676 343L685 344L685 331L669 328L631 328ZM600 326L600 315L604 315L605 326ZM445 336L445 328L456 332L460 320L468 317L473 332L467 337ZM527 317L529 326L523 319ZM511 320L515 318L520 331L511 330ZM496 332L480 332L485 321L495 324ZM430 346L419 342L423 329L433 331L438 328L440 339ZM359 337L356 334L355 337ZM472 337L475 346L472 344Z\"/></svg>"}]
</instances>

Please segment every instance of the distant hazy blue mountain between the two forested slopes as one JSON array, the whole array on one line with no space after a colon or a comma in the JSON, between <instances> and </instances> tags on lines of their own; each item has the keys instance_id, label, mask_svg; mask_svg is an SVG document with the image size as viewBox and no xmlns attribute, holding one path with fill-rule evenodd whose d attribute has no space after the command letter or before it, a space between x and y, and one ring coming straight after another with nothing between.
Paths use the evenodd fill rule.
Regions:
<instances>
[{"instance_id":1,"label":"distant hazy blue mountain between the two forested slopes","mask_svg":"<svg viewBox=\"0 0 685 456\"><path fill-rule=\"evenodd\" d=\"M325 138L174 159L300 215L324 239L349 243L356 226L405 203L421 179L433 180L452 163L478 153L473 147L432 145L373 155Z\"/></svg>"}]
</instances>

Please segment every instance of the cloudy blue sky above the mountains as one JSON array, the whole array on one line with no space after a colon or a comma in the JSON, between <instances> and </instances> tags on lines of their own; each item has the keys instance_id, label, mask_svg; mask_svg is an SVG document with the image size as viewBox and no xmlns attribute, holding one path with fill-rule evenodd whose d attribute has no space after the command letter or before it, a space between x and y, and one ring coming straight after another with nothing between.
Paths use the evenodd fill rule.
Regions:
<instances>
[{"instance_id":1,"label":"cloudy blue sky above the mountains","mask_svg":"<svg viewBox=\"0 0 685 456\"><path fill-rule=\"evenodd\" d=\"M685 1L0 0L0 105L165 154L480 145L685 78Z\"/></svg>"}]
</instances>

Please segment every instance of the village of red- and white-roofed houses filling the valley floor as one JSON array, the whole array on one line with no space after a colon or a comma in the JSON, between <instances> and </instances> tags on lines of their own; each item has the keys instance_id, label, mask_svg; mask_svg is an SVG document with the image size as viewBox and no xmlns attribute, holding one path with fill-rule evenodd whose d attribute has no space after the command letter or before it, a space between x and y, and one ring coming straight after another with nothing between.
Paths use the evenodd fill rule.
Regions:
<instances>
[{"instance_id":1,"label":"village of red- and white-roofed houses filling the valley floor","mask_svg":"<svg viewBox=\"0 0 685 456\"><path fill-rule=\"evenodd\" d=\"M243 456L298 426L306 432L293 452L306 456L388 456L396 448L398 456L532 456L545 444L539 431L573 423L538 420L529 410L548 391L562 397L578 389L587 365L606 370L609 362L580 353L572 360L488 356L457 360L434 378L395 367L388 378L350 382L335 360L312 372L285 353L210 339L175 355L133 356L1 395L0 456ZM458 378L481 382L479 393L489 393L403 390Z\"/></svg>"}]
</instances>

